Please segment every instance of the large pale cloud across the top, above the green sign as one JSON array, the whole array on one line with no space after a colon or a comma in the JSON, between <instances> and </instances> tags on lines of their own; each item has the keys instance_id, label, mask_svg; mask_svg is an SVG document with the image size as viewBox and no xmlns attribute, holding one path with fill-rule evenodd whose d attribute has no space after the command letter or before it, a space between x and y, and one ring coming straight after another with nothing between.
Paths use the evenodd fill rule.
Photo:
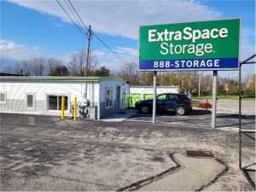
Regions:
<instances>
[{"instance_id":1,"label":"large pale cloud across the top, above the green sign","mask_svg":"<svg viewBox=\"0 0 256 192\"><path fill-rule=\"evenodd\" d=\"M70 22L55 1L9 0L29 9ZM66 3L60 0L67 9ZM191 20L209 20L220 14L197 1L72 1L84 23L96 32L137 39L138 26ZM68 9L67 9L68 10Z\"/></svg>"}]
</instances>

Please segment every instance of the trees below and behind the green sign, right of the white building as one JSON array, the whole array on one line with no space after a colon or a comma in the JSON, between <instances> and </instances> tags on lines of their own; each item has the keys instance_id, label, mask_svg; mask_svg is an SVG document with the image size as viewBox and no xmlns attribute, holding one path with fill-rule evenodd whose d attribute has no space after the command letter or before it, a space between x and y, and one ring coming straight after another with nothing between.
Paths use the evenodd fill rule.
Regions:
<instances>
[{"instance_id":1,"label":"trees below and behind the green sign, right of the white building","mask_svg":"<svg viewBox=\"0 0 256 192\"><path fill-rule=\"evenodd\" d=\"M119 76L131 85L153 85L152 72L138 72L137 63L127 62L119 72ZM201 79L201 80L200 80ZM159 72L157 84L160 86L177 85L179 90L187 95L198 96L201 81L201 96L212 95L212 75L198 71L193 72ZM255 96L256 74L247 76L241 83L244 96ZM237 96L239 81L236 79L218 77L218 95Z\"/></svg>"}]
</instances>

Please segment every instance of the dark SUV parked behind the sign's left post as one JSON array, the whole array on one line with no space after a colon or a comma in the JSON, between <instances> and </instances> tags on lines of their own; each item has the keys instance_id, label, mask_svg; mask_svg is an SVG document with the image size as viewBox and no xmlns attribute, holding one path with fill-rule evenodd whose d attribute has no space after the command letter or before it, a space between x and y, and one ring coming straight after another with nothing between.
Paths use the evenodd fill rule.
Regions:
<instances>
[{"instance_id":1,"label":"dark SUV parked behind the sign's left post","mask_svg":"<svg viewBox=\"0 0 256 192\"><path fill-rule=\"evenodd\" d=\"M175 112L184 115L192 111L191 99L184 94L165 93L156 97L156 110ZM135 103L135 108L143 113L149 113L153 108L153 99L141 100Z\"/></svg>"}]
</instances>

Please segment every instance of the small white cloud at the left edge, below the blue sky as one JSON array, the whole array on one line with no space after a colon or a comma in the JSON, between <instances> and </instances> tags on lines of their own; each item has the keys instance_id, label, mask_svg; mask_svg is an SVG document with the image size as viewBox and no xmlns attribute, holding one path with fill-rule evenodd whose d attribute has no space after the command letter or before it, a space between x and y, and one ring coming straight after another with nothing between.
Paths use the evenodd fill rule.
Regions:
<instances>
[{"instance_id":1,"label":"small white cloud at the left edge, below the blue sky","mask_svg":"<svg viewBox=\"0 0 256 192\"><path fill-rule=\"evenodd\" d=\"M0 58L6 60L22 61L41 56L38 48L27 47L22 44L0 39Z\"/></svg>"}]
</instances>

